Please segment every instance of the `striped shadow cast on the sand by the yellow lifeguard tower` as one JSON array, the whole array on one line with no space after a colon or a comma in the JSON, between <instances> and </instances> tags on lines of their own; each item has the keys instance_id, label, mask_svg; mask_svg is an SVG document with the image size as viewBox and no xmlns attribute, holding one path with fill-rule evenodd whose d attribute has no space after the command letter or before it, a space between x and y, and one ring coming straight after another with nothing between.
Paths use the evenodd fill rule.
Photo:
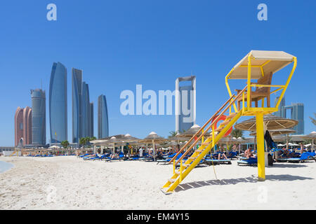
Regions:
<instances>
[{"instance_id":1,"label":"striped shadow cast on the sand by the yellow lifeguard tower","mask_svg":"<svg viewBox=\"0 0 316 224\"><path fill-rule=\"evenodd\" d=\"M305 177L305 176L293 176L289 174L283 175L266 175L266 181L296 181L296 180L313 180L313 178ZM204 186L213 186L213 185L230 185L236 183L256 183L258 182L258 178L256 176L249 176L246 178L239 179L222 179L222 180L209 180L209 181L195 181L190 183L183 183L176 188L176 192L189 190L192 188L202 188Z\"/></svg>"}]
</instances>

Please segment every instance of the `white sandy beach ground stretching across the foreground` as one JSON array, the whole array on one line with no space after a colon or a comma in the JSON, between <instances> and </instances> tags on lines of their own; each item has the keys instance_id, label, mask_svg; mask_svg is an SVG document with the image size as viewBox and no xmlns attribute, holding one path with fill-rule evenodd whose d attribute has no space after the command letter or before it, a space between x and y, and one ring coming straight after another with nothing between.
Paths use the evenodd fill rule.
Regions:
<instances>
[{"instance_id":1,"label":"white sandy beach ground stretching across the foreground","mask_svg":"<svg viewBox=\"0 0 316 224\"><path fill-rule=\"evenodd\" d=\"M159 188L172 165L84 161L75 156L4 158L0 209L316 209L316 162L277 163L258 182L257 167L195 168L182 188Z\"/></svg>"}]
</instances>

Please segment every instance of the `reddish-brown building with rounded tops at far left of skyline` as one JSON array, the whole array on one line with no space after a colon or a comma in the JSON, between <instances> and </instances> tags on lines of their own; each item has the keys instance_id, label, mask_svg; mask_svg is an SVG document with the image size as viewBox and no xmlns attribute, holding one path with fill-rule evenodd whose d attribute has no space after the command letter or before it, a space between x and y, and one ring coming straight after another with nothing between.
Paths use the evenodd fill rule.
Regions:
<instances>
[{"instance_id":1,"label":"reddish-brown building with rounded tops at far left of skyline","mask_svg":"<svg viewBox=\"0 0 316 224\"><path fill-rule=\"evenodd\" d=\"M32 109L18 107L14 116L15 146L32 144Z\"/></svg>"}]
</instances>

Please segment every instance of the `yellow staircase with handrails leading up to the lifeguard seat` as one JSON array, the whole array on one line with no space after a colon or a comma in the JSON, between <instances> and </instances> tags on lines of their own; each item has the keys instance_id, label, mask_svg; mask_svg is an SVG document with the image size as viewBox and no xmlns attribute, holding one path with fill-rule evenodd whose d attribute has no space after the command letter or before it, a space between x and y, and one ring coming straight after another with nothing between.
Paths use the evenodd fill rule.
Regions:
<instances>
[{"instance_id":1,"label":"yellow staircase with handrails leading up to the lifeguard seat","mask_svg":"<svg viewBox=\"0 0 316 224\"><path fill-rule=\"evenodd\" d=\"M189 140L187 141L187 144L183 146L183 148L178 151L178 153L171 159L169 164L173 162L173 174L171 176L171 179L168 179L168 181L164 184L164 186L161 188L162 192L165 194L173 193L173 190L176 189L176 187L185 179L187 174L189 174L192 169L194 169L199 162L204 158L204 156L211 151L211 149L215 146L215 144L224 137L225 133L234 125L237 120L242 116L242 113L244 111L243 109L240 109L239 111L236 111L236 113L231 113L232 111L232 105L235 106L235 100L239 96L244 96L244 91L246 90L246 87L244 90L239 92L237 96L232 95L230 99L228 99L223 106L216 111L216 113L201 127L201 129ZM244 102L243 102L244 103ZM227 105L227 106L226 106ZM224 109L225 108L225 109ZM215 128L215 124L218 122L221 116L224 115L224 113L230 109L230 114L225 118L223 123L220 123L220 125ZM211 123L209 125L209 123ZM204 130L204 128L209 125L209 127ZM183 158L185 158L185 155L191 151L191 149L197 144L200 139L204 136L206 132L211 130L211 137L208 137L205 141L202 142L201 146L195 150L195 152L187 158L185 162L183 162ZM194 141L195 140L195 141ZM187 148L188 147L188 148ZM183 155L176 160L178 155L182 153L185 148L187 150L183 153ZM176 169L176 165L180 163L180 169Z\"/></svg>"}]
</instances>

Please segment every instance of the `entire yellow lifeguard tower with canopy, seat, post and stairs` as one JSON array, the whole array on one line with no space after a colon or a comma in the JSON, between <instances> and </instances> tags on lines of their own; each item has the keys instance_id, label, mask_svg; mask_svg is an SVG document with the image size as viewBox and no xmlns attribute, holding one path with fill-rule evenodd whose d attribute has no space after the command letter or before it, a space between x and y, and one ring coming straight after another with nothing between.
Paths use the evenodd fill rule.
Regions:
<instances>
[{"instance_id":1,"label":"entire yellow lifeguard tower with canopy, seat, post and stairs","mask_svg":"<svg viewBox=\"0 0 316 224\"><path fill-rule=\"evenodd\" d=\"M284 85L272 85L272 75L293 62L293 68ZM265 155L264 155L264 129L263 115L273 113L278 110L279 104L287 90L287 86L296 69L297 60L293 55L283 51L251 50L242 60L240 60L225 77L225 83L230 98L220 106L220 109L201 127L201 129L183 146L180 151L171 159L169 164L173 163L173 174L171 179L164 184L162 192L169 194L179 185L192 169L211 151L215 144L225 136L241 116L256 116L256 139L257 139L257 161L258 161L258 181L265 180ZM236 90L232 94L229 79L244 79L246 86L242 90ZM257 80L256 83L251 83ZM255 90L252 90L255 87ZM272 90L274 88L274 90ZM270 94L282 90L275 107L270 106ZM261 106L258 106L261 101ZM266 106L265 106L266 101ZM253 106L254 102L254 106ZM237 106L236 106L237 104ZM241 104L241 105L240 105ZM233 112L234 111L234 112ZM225 113L228 113L225 115ZM225 120L216 127L218 120ZM211 137L204 141L204 133L211 132ZM202 139L202 144L195 152L187 158L185 155ZM187 148L187 151L183 151ZM178 155L183 155L178 158ZM178 159L177 159L178 158ZM180 163L180 169L176 165Z\"/></svg>"}]
</instances>

